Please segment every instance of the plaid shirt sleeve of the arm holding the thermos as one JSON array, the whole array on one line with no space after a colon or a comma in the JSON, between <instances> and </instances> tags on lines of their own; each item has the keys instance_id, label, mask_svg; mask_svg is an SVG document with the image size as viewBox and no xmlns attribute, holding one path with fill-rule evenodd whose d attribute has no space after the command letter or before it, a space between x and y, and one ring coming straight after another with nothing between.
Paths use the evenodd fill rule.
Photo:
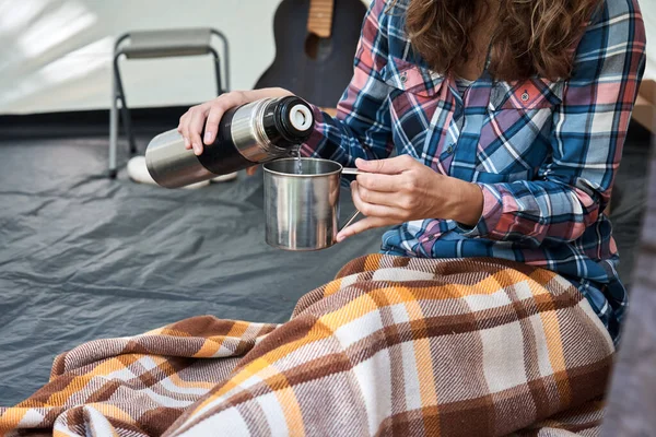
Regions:
<instances>
[{"instance_id":1,"label":"plaid shirt sleeve of the arm holding the thermos","mask_svg":"<svg viewBox=\"0 0 656 437\"><path fill-rule=\"evenodd\" d=\"M303 144L304 156L324 157L344 166L355 158L388 157L393 150L389 114L390 85L382 71L388 60L385 0L373 0L364 19L354 59L353 79L333 118L314 106L315 130Z\"/></svg>"}]
</instances>

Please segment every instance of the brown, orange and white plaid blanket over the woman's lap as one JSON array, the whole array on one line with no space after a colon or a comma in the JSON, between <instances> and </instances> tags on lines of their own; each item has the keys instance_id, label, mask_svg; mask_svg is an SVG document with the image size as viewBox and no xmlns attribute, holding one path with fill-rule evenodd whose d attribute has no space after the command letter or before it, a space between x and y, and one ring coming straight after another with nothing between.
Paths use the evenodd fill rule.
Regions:
<instances>
[{"instance_id":1,"label":"brown, orange and white plaid blanket over the woman's lap","mask_svg":"<svg viewBox=\"0 0 656 437\"><path fill-rule=\"evenodd\" d=\"M203 316L67 352L0 434L596 435L612 357L553 272L373 255L280 326Z\"/></svg>"}]
</instances>

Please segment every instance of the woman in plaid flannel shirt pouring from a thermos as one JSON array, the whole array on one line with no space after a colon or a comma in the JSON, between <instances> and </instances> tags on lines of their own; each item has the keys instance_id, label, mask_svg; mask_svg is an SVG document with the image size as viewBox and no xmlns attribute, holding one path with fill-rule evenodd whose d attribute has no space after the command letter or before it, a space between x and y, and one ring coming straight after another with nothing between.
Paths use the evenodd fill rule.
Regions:
<instances>
[{"instance_id":1,"label":"woman in plaid flannel shirt pouring from a thermos","mask_svg":"<svg viewBox=\"0 0 656 437\"><path fill-rule=\"evenodd\" d=\"M634 0L375 1L338 116L315 108L302 149L371 173L351 186L367 218L338 239L398 225L385 253L553 270L617 341L626 293L604 211L644 48ZM178 130L200 154L227 108L288 94L229 93Z\"/></svg>"}]
</instances>

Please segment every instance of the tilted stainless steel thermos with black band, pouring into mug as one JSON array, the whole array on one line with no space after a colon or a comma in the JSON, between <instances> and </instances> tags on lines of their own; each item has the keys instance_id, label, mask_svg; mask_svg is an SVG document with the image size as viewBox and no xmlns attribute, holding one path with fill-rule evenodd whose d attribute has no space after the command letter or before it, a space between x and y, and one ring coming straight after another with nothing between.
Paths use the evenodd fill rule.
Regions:
<instances>
[{"instance_id":1,"label":"tilted stainless steel thermos with black band, pouring into mug","mask_svg":"<svg viewBox=\"0 0 656 437\"><path fill-rule=\"evenodd\" d=\"M145 164L159 185L185 187L290 156L313 128L312 109L302 98L265 98L227 110L216 139L199 156L185 149L177 130L159 134L145 150Z\"/></svg>"}]
</instances>

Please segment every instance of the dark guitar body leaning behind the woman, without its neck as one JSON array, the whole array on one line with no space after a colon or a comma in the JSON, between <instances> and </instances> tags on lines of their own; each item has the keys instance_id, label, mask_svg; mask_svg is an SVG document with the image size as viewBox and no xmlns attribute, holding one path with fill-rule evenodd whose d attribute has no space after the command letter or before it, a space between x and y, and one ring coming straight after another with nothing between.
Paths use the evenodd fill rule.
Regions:
<instances>
[{"instance_id":1,"label":"dark guitar body leaning behind the woman, without its neck","mask_svg":"<svg viewBox=\"0 0 656 437\"><path fill-rule=\"evenodd\" d=\"M273 19L276 59L255 87L281 86L335 108L353 76L353 57L366 13L362 0L333 0L330 37L308 33L308 0L283 0Z\"/></svg>"}]
</instances>

